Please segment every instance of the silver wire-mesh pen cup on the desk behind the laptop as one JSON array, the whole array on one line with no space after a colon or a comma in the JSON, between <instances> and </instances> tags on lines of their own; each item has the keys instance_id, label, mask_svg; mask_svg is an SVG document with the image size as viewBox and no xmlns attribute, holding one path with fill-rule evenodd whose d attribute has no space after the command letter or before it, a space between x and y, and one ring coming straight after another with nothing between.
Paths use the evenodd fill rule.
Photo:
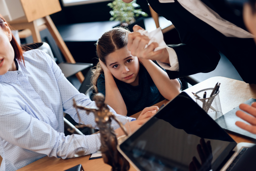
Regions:
<instances>
[{"instance_id":1,"label":"silver wire-mesh pen cup on the desk behind the laptop","mask_svg":"<svg viewBox=\"0 0 256 171\"><path fill-rule=\"evenodd\" d=\"M220 105L220 98L219 98L219 93L220 90L218 90L218 92L214 95L212 95L212 97L210 97L210 94L212 92L214 88L208 88L208 89L203 89L200 90L198 92L196 92L196 94L200 97L197 98L194 96L194 98L196 99L196 103L202 108L204 109L204 111L213 119L216 120L217 118L219 118L220 116L223 115L222 110L221 110L221 105ZM204 92L206 92L206 98L202 98L204 95Z\"/></svg>"}]
</instances>

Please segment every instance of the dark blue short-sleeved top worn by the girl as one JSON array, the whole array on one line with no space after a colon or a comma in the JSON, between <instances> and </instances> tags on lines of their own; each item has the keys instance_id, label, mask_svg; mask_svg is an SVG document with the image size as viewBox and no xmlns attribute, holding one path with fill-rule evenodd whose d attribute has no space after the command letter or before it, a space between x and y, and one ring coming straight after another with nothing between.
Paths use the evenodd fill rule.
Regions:
<instances>
[{"instance_id":1,"label":"dark blue short-sleeved top worn by the girl","mask_svg":"<svg viewBox=\"0 0 256 171\"><path fill-rule=\"evenodd\" d=\"M126 105L127 116L131 116L143 110L145 107L152 106L165 99L158 91L155 83L153 82L146 68L142 64L140 64L138 76L138 86L131 86L128 83L114 78ZM97 88L99 93L102 93L104 96L106 95L104 74L101 74L99 76L97 81Z\"/></svg>"}]
</instances>

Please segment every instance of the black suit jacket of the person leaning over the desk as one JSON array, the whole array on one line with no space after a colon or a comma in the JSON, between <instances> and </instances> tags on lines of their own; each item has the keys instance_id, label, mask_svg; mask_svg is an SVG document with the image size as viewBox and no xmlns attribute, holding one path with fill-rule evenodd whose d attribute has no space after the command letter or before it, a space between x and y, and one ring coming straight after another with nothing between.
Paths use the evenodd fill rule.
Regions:
<instances>
[{"instance_id":1,"label":"black suit jacket of the person leaning over the desk","mask_svg":"<svg viewBox=\"0 0 256 171\"><path fill-rule=\"evenodd\" d=\"M245 82L256 83L254 74L256 46L252 38L226 37L188 12L176 0L174 3L147 1L155 12L173 23L182 40L182 44L168 45L174 48L179 61L179 72L167 71L170 79L214 70L220 59L219 51L221 51ZM222 18L247 30L242 14L237 15L225 0L202 0L202 2Z\"/></svg>"}]
</instances>

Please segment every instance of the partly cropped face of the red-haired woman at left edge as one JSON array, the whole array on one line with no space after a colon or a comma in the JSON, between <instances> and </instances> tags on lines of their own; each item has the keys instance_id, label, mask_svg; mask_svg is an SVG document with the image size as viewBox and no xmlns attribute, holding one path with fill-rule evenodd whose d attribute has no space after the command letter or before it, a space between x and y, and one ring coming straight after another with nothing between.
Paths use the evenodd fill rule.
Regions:
<instances>
[{"instance_id":1,"label":"partly cropped face of the red-haired woman at left edge","mask_svg":"<svg viewBox=\"0 0 256 171\"><path fill-rule=\"evenodd\" d=\"M11 30L7 23L5 28L0 27L0 75L7 71L16 71L17 68L14 62L14 50L10 44L12 38Z\"/></svg>"}]
</instances>

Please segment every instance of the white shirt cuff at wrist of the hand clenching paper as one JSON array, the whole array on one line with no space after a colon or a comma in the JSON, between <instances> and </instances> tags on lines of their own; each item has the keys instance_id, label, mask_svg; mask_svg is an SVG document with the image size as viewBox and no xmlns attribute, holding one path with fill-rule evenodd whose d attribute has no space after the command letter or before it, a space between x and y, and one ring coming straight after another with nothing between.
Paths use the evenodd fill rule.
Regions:
<instances>
[{"instance_id":1,"label":"white shirt cuff at wrist of the hand clenching paper","mask_svg":"<svg viewBox=\"0 0 256 171\"><path fill-rule=\"evenodd\" d=\"M166 49L168 51L169 54L169 62L165 63L165 62L161 62L157 60L157 63L164 69L170 70L170 71L179 71L179 62L178 62L178 57L177 54L175 52L175 50L169 46L166 46Z\"/></svg>"}]
</instances>

